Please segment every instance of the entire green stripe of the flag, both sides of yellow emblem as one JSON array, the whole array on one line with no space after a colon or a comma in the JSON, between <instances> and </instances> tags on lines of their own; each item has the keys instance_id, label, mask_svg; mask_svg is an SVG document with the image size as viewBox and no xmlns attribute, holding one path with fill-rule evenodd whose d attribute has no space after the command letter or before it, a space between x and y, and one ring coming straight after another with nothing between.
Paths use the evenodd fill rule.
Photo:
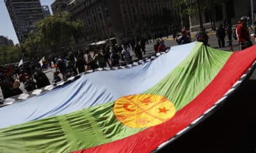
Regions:
<instances>
[{"instance_id":1,"label":"entire green stripe of the flag, both sides of yellow emblem","mask_svg":"<svg viewBox=\"0 0 256 153\"><path fill-rule=\"evenodd\" d=\"M159 84L143 94L158 94L179 111L218 74L231 52L197 43L191 54ZM72 152L121 140L144 128L129 128L113 113L114 102L0 129L0 152Z\"/></svg>"}]
</instances>

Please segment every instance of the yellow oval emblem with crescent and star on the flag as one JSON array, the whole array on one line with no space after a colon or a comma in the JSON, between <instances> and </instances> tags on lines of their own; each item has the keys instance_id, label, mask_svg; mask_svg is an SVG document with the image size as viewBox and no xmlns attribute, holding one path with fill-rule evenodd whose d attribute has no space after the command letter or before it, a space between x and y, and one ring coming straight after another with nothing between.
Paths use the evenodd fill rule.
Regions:
<instances>
[{"instance_id":1,"label":"yellow oval emblem with crescent and star on the flag","mask_svg":"<svg viewBox=\"0 0 256 153\"><path fill-rule=\"evenodd\" d=\"M175 115L175 106L163 96L141 94L124 96L115 102L116 118L131 128L162 124Z\"/></svg>"}]
</instances>

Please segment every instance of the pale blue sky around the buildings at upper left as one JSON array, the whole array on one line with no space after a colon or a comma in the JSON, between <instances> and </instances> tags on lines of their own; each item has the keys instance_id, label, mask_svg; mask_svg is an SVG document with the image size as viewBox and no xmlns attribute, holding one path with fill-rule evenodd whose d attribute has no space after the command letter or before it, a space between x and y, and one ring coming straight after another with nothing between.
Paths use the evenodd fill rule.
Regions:
<instances>
[{"instance_id":1,"label":"pale blue sky around the buildings at upper left","mask_svg":"<svg viewBox=\"0 0 256 153\"><path fill-rule=\"evenodd\" d=\"M42 5L49 6L51 10L51 4L54 0L40 0ZM0 36L8 36L13 40L14 44L19 43L15 30L12 25L11 18L4 4L4 0L0 0Z\"/></svg>"}]
</instances>

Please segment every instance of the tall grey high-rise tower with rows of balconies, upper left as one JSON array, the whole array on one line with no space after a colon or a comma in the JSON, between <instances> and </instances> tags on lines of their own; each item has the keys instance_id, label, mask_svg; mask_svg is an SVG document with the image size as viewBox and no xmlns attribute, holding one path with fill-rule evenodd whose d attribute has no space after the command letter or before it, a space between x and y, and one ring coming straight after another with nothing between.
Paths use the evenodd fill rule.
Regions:
<instances>
[{"instance_id":1,"label":"tall grey high-rise tower with rows of balconies, upper left","mask_svg":"<svg viewBox=\"0 0 256 153\"><path fill-rule=\"evenodd\" d=\"M44 18L40 0L4 0L20 43L35 29L35 23Z\"/></svg>"}]
</instances>

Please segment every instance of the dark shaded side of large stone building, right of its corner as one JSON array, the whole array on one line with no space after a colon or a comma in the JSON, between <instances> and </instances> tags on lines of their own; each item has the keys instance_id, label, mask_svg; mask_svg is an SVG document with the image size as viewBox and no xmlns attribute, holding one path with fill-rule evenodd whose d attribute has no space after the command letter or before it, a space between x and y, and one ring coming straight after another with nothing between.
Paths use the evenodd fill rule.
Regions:
<instances>
[{"instance_id":1,"label":"dark shaded side of large stone building, right of its corner","mask_svg":"<svg viewBox=\"0 0 256 153\"><path fill-rule=\"evenodd\" d=\"M124 36L166 31L174 13L172 6L170 0L120 0Z\"/></svg>"}]
</instances>

